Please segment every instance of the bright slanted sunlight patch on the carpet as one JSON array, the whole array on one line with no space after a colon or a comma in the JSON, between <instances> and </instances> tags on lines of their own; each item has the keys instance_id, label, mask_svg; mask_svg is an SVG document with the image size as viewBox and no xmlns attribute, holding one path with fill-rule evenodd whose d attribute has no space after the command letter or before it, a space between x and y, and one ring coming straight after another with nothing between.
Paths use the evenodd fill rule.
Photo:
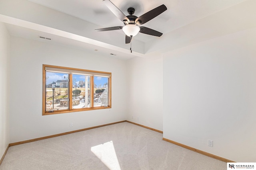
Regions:
<instances>
[{"instance_id":1,"label":"bright slanted sunlight patch on the carpet","mask_svg":"<svg viewBox=\"0 0 256 170\"><path fill-rule=\"evenodd\" d=\"M110 169L121 170L113 141L91 147L91 151Z\"/></svg>"}]
</instances>

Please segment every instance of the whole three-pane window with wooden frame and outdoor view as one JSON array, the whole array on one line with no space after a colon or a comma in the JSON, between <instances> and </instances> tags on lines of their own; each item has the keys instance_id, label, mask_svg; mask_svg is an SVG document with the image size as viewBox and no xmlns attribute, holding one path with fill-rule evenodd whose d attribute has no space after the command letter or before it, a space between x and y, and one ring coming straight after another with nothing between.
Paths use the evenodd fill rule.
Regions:
<instances>
[{"instance_id":1,"label":"whole three-pane window with wooden frame and outdoor view","mask_svg":"<svg viewBox=\"0 0 256 170\"><path fill-rule=\"evenodd\" d=\"M43 115L111 108L111 73L43 65Z\"/></svg>"}]
</instances>

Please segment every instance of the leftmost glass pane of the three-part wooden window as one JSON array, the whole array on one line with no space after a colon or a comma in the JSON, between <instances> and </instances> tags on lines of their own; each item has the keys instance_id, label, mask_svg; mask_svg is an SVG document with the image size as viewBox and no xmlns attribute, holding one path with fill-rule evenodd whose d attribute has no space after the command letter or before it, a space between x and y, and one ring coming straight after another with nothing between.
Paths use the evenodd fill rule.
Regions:
<instances>
[{"instance_id":1,"label":"leftmost glass pane of the three-part wooden window","mask_svg":"<svg viewBox=\"0 0 256 170\"><path fill-rule=\"evenodd\" d=\"M68 74L46 72L46 111L68 109Z\"/></svg>"}]
</instances>

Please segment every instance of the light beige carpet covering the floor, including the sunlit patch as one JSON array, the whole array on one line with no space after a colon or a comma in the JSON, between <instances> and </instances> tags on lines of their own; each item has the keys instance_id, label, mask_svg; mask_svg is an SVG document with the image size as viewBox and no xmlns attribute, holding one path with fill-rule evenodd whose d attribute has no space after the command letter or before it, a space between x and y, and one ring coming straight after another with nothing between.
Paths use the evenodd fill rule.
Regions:
<instances>
[{"instance_id":1,"label":"light beige carpet covering the floor, including the sunlit patch","mask_svg":"<svg viewBox=\"0 0 256 170\"><path fill-rule=\"evenodd\" d=\"M118 123L10 147L0 170L226 170L226 162Z\"/></svg>"}]
</instances>

